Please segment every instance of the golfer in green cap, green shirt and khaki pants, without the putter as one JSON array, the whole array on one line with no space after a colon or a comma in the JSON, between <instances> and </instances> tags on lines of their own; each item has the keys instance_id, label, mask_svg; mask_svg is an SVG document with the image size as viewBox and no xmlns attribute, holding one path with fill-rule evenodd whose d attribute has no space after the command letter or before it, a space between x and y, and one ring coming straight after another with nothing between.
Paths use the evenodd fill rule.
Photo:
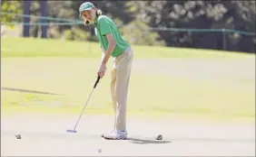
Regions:
<instances>
[{"instance_id":1,"label":"golfer in green cap, green shirt and khaki pants, without the putter","mask_svg":"<svg viewBox=\"0 0 256 157\"><path fill-rule=\"evenodd\" d=\"M80 16L84 18L84 25L93 23L95 34L103 49L103 58L97 74L103 78L106 63L113 57L111 71L111 96L115 113L113 132L103 134L105 139L123 140L127 138L126 106L128 85L133 63L133 50L128 42L123 40L115 23L94 4L85 2L79 7Z\"/></svg>"}]
</instances>

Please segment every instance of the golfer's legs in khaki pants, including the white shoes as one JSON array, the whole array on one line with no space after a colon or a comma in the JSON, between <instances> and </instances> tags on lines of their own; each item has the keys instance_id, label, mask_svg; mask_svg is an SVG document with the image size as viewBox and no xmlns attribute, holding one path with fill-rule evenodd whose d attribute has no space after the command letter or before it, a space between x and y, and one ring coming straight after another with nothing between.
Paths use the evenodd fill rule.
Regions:
<instances>
[{"instance_id":1,"label":"golfer's legs in khaki pants, including the white shoes","mask_svg":"<svg viewBox=\"0 0 256 157\"><path fill-rule=\"evenodd\" d=\"M118 56L114 61L113 76L115 76L115 86L112 90L113 100L116 102L115 112L115 129L111 134L104 134L105 139L126 139L126 102L128 95L128 85L130 80L130 73L133 63L133 51L124 51L122 55ZM112 79L114 80L114 79ZM113 81L114 82L114 81ZM113 83L112 82L112 83ZM114 85L114 84L113 84ZM112 88L113 89L113 88ZM124 131L124 132L122 132Z\"/></svg>"}]
</instances>

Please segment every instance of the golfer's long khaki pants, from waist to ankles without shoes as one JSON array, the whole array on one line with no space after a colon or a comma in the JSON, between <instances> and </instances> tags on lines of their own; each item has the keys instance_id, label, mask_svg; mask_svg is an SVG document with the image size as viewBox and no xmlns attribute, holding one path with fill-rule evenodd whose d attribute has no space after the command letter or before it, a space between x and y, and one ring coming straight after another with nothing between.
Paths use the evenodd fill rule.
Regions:
<instances>
[{"instance_id":1,"label":"golfer's long khaki pants, from waist to ankles without shoes","mask_svg":"<svg viewBox=\"0 0 256 157\"><path fill-rule=\"evenodd\" d=\"M133 50L128 47L121 55L113 58L111 72L111 95L115 113L114 129L126 130L126 106L128 86L133 64Z\"/></svg>"}]
</instances>

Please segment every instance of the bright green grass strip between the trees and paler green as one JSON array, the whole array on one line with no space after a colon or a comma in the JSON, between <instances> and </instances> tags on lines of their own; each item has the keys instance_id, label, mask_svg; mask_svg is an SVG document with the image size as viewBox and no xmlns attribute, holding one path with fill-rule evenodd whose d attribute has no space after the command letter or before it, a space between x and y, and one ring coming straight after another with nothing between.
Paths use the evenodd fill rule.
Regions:
<instances>
[{"instance_id":1,"label":"bright green grass strip between the trees and paler green","mask_svg":"<svg viewBox=\"0 0 256 157\"><path fill-rule=\"evenodd\" d=\"M76 57L98 58L99 43L66 42L33 38L2 37L2 58L5 57ZM229 51L193 50L156 46L133 46L136 58L251 58L254 54Z\"/></svg>"}]
</instances>

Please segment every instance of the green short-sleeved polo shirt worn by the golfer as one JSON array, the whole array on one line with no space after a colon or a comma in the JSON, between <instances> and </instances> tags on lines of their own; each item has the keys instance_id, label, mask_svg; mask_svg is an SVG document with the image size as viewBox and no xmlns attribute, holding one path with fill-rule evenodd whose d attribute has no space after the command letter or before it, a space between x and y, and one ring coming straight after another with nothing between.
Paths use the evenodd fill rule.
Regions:
<instances>
[{"instance_id":1,"label":"green short-sleeved polo shirt worn by the golfer","mask_svg":"<svg viewBox=\"0 0 256 157\"><path fill-rule=\"evenodd\" d=\"M106 15L100 15L95 23L95 34L97 39L101 43L103 50L106 51L108 47L108 41L106 34L112 33L116 42L116 46L111 54L112 57L116 57L123 53L123 51L129 46L128 42L123 40L121 33L118 31L115 23Z\"/></svg>"}]
</instances>

